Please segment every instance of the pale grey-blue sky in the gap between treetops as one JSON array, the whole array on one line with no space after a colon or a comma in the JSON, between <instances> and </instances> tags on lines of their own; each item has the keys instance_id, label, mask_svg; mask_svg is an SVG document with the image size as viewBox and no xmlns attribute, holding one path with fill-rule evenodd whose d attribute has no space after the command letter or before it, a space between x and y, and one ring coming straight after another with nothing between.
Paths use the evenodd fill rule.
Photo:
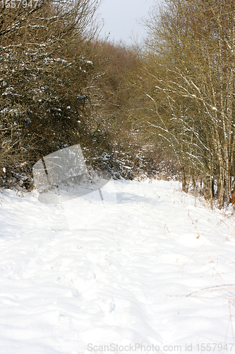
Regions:
<instances>
[{"instance_id":1,"label":"pale grey-blue sky in the gap between treetops","mask_svg":"<svg viewBox=\"0 0 235 354\"><path fill-rule=\"evenodd\" d=\"M119 42L120 40L131 44L131 33L143 38L145 29L136 21L146 17L150 6L156 0L102 0L99 12L104 21L100 33L102 39L107 38ZM110 34L109 34L110 33Z\"/></svg>"}]
</instances>

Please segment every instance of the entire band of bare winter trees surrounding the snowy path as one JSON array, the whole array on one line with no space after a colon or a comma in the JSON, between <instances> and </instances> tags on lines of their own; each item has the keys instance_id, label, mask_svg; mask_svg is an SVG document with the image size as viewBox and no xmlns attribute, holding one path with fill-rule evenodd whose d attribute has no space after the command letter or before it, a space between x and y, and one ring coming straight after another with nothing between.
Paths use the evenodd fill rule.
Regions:
<instances>
[{"instance_id":1,"label":"entire band of bare winter trees surrounding the snowy path","mask_svg":"<svg viewBox=\"0 0 235 354\"><path fill-rule=\"evenodd\" d=\"M114 178L182 181L223 207L234 194L234 0L165 0L145 40L99 40L97 0L1 1L0 181L80 144Z\"/></svg>"}]
</instances>

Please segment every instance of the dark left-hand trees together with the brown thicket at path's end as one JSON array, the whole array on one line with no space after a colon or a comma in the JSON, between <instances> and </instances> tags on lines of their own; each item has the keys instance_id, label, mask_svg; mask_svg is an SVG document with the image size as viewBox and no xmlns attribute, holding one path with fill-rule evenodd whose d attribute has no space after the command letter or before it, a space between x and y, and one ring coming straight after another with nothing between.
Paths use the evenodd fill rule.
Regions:
<instances>
[{"instance_id":1,"label":"dark left-hand trees together with the brown thicket at path's end","mask_svg":"<svg viewBox=\"0 0 235 354\"><path fill-rule=\"evenodd\" d=\"M33 164L73 144L81 144L88 164L116 178L159 171L162 152L129 119L126 80L140 59L128 47L97 40L98 2L3 2L1 186L31 188Z\"/></svg>"}]
</instances>

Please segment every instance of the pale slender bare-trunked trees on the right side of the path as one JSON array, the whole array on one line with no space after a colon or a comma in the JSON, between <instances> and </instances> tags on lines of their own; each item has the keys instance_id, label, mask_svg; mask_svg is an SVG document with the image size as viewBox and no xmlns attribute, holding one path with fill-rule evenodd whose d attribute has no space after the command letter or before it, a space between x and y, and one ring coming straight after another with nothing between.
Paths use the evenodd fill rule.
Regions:
<instances>
[{"instance_id":1,"label":"pale slender bare-trunked trees on the right side of the path","mask_svg":"<svg viewBox=\"0 0 235 354\"><path fill-rule=\"evenodd\" d=\"M166 0L148 18L135 79L140 119L189 183L222 206L234 190L234 0Z\"/></svg>"}]
</instances>

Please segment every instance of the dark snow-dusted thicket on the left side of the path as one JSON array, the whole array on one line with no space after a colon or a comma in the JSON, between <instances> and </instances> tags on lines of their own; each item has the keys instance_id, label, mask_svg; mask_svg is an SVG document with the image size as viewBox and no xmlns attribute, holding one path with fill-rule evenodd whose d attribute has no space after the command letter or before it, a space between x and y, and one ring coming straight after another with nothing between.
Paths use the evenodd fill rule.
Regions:
<instances>
[{"instance_id":1,"label":"dark snow-dusted thicket on the left side of the path","mask_svg":"<svg viewBox=\"0 0 235 354\"><path fill-rule=\"evenodd\" d=\"M13 4L0 8L2 183L86 135L92 63L83 43L94 34L97 1Z\"/></svg>"}]
</instances>

